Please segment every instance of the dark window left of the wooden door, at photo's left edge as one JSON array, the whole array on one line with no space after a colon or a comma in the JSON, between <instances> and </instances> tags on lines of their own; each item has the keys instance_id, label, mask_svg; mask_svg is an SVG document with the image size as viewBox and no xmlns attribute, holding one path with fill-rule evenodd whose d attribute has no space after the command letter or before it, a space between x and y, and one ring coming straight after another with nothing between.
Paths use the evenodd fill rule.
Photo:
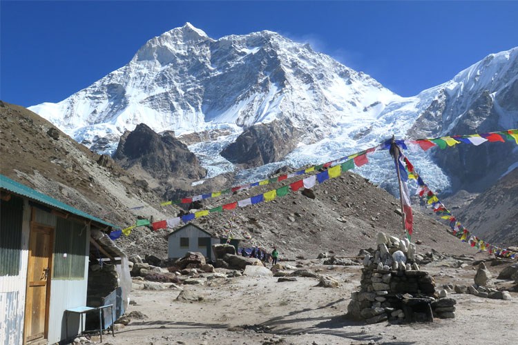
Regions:
<instances>
[{"instance_id":1,"label":"dark window left of the wooden door, at photo's left edge","mask_svg":"<svg viewBox=\"0 0 518 345\"><path fill-rule=\"evenodd\" d=\"M0 276L19 275L23 199L0 201Z\"/></svg>"}]
</instances>

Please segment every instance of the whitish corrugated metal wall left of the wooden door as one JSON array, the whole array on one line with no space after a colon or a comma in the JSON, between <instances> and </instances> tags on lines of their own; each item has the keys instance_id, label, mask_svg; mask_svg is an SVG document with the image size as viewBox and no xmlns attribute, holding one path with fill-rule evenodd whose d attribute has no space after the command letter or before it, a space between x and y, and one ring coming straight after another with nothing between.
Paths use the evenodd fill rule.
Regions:
<instances>
[{"instance_id":1,"label":"whitish corrugated metal wall left of the wooden door","mask_svg":"<svg viewBox=\"0 0 518 345\"><path fill-rule=\"evenodd\" d=\"M29 226L30 207L27 199L23 199L23 218L18 230L21 231L18 271L13 275L0 276L0 345L23 344ZM5 230L0 228L0 231Z\"/></svg>"}]
</instances>

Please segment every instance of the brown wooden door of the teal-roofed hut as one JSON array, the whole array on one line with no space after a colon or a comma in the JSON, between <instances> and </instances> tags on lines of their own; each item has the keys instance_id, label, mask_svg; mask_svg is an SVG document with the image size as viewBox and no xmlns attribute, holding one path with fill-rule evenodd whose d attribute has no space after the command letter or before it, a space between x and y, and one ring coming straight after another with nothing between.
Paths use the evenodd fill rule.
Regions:
<instances>
[{"instance_id":1,"label":"brown wooden door of the teal-roofed hut","mask_svg":"<svg viewBox=\"0 0 518 345\"><path fill-rule=\"evenodd\" d=\"M25 343L46 339L54 228L32 222L27 268Z\"/></svg>"}]
</instances>

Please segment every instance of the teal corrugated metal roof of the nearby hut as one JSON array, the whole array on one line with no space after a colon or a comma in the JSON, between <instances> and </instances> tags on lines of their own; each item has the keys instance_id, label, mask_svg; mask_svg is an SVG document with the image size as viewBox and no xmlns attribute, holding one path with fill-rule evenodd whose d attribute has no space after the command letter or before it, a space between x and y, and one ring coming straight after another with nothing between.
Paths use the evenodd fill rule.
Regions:
<instances>
[{"instance_id":1,"label":"teal corrugated metal roof of the nearby hut","mask_svg":"<svg viewBox=\"0 0 518 345\"><path fill-rule=\"evenodd\" d=\"M111 226L113 228L119 228L119 226L115 226L113 224L107 223L97 217L93 217L92 215L88 215L88 213L84 213L77 208L73 208L72 206L68 206L67 204L63 204L61 201L57 201L56 199L52 199L48 195L44 195L43 193L39 193L38 191L29 188L23 184L20 184L17 181L13 181L9 177L0 175L0 188L10 191L11 193L15 193L18 195L23 195L24 197L28 197L29 199L39 201L42 204L46 204L48 206L52 206L55 208L59 208L60 210L64 210L68 213L72 213L73 215L77 215L79 217L84 217L86 219L91 219L96 221L99 224L104 224L106 226Z\"/></svg>"}]
</instances>

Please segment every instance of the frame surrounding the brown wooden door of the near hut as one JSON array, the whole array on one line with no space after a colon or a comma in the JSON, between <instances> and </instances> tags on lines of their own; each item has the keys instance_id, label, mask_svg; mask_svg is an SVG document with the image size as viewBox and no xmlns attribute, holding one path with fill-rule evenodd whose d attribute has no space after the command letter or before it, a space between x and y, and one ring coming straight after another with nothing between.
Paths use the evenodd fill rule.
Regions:
<instances>
[{"instance_id":1,"label":"frame surrounding the brown wooden door of the near hut","mask_svg":"<svg viewBox=\"0 0 518 345\"><path fill-rule=\"evenodd\" d=\"M47 275L47 286L46 286L46 296L45 296L45 328L44 328L44 338L48 339L48 319L50 315L50 285L52 281L52 262L54 261L54 257L52 253L54 252L54 233L55 227L49 226L46 224L40 224L35 221L36 210L32 207L31 217L30 217L30 229L29 229L29 244L28 244L28 259L27 259L27 279L26 279L26 295L25 295L25 311L27 311L27 299L29 293L29 272L30 272L30 256L31 256L31 248L30 248L30 239L32 238L33 226L38 226L41 228L45 228L49 230L50 233L50 241L48 246L48 275ZM25 313L26 314L26 313ZM27 344L26 342L26 324L27 324L27 315L23 317L23 344ZM31 340L32 341L32 340Z\"/></svg>"}]
</instances>

